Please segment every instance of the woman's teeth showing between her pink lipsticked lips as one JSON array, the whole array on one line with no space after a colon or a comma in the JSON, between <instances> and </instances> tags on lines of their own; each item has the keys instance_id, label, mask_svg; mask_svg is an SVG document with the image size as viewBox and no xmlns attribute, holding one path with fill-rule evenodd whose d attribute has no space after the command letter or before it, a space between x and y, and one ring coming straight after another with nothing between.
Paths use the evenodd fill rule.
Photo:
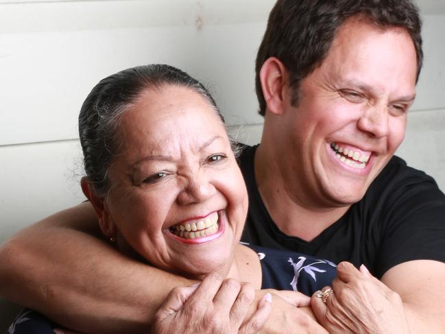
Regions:
<instances>
[{"instance_id":1,"label":"woman's teeth showing between her pink lipsticked lips","mask_svg":"<svg viewBox=\"0 0 445 334\"><path fill-rule=\"evenodd\" d=\"M170 231L184 239L195 239L213 235L218 230L218 213L212 213L206 219L172 226Z\"/></svg>"}]
</instances>

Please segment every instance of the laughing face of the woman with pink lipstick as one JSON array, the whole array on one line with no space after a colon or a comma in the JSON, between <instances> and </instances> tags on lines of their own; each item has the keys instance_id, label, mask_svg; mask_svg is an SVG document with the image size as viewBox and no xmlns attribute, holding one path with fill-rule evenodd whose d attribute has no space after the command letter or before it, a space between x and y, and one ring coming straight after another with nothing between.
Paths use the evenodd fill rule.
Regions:
<instances>
[{"instance_id":1,"label":"laughing face of the woman with pink lipstick","mask_svg":"<svg viewBox=\"0 0 445 334\"><path fill-rule=\"evenodd\" d=\"M248 196L213 108L189 88L149 90L117 131L103 230L164 270L227 274Z\"/></svg>"}]
</instances>

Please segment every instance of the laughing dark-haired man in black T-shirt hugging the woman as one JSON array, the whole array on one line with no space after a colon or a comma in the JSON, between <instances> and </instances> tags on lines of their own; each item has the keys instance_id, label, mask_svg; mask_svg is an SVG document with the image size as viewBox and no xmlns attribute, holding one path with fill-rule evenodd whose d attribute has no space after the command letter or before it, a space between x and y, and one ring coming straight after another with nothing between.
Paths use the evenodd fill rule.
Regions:
<instances>
[{"instance_id":1,"label":"laughing dark-haired man in black T-shirt hugging the woman","mask_svg":"<svg viewBox=\"0 0 445 334\"><path fill-rule=\"evenodd\" d=\"M409 0L278 0L258 51L265 122L260 145L240 157L250 200L243 241L348 261L312 297L331 333L445 329L445 196L394 156L421 45ZM12 287L2 294L73 328L88 318L98 331L143 330L165 290L185 283L123 259L91 236L95 225L86 203L22 232L1 254L1 283ZM52 243L38 237L47 232ZM42 282L49 292L32 289ZM302 331L316 328L301 319ZM278 333L296 331L283 321Z\"/></svg>"}]
</instances>

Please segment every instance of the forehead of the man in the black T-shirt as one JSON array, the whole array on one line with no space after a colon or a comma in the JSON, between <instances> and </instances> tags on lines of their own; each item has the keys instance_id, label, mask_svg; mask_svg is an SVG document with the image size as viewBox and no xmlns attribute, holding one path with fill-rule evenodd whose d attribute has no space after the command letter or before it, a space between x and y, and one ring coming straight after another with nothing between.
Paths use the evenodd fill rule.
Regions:
<instances>
[{"instance_id":1,"label":"forehead of the man in the black T-shirt","mask_svg":"<svg viewBox=\"0 0 445 334\"><path fill-rule=\"evenodd\" d=\"M357 84L367 91L372 87L376 95L389 86L394 95L415 94L415 48L408 32L400 27L346 21L320 67L328 79Z\"/></svg>"}]
</instances>

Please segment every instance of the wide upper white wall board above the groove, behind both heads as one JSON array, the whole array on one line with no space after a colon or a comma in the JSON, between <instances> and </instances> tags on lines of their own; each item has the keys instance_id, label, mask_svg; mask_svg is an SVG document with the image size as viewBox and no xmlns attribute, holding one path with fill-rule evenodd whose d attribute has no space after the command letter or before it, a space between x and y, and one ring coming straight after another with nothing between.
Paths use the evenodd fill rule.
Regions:
<instances>
[{"instance_id":1,"label":"wide upper white wall board above the groove, behind both heads","mask_svg":"<svg viewBox=\"0 0 445 334\"><path fill-rule=\"evenodd\" d=\"M230 125L256 124L254 58L274 1L0 3L0 145L77 138L102 77L165 62L211 86ZM445 15L427 15L413 110L445 106Z\"/></svg>"}]
</instances>

